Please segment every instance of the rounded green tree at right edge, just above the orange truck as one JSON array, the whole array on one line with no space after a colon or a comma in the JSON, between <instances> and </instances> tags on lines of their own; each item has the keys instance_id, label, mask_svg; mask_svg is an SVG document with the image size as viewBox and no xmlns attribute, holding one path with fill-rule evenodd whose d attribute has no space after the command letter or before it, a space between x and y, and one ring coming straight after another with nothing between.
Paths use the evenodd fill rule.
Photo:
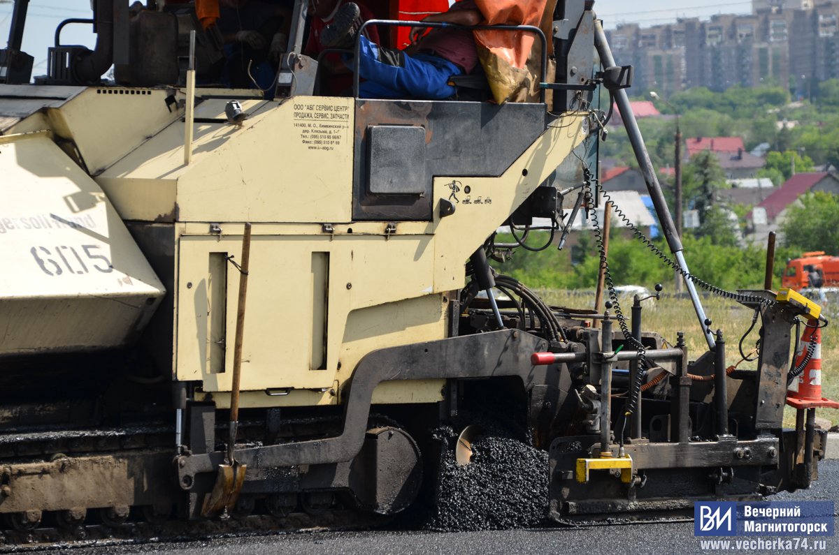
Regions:
<instances>
[{"instance_id":1,"label":"rounded green tree at right edge, just above the orange truck","mask_svg":"<svg viewBox=\"0 0 839 555\"><path fill-rule=\"evenodd\" d=\"M781 225L784 244L800 251L839 253L839 197L816 191L789 206Z\"/></svg>"}]
</instances>

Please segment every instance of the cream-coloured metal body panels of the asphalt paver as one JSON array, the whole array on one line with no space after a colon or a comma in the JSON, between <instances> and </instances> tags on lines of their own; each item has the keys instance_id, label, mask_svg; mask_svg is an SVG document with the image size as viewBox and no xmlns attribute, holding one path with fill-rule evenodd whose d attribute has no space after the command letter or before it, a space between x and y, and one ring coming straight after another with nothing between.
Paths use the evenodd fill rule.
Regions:
<instances>
[{"instance_id":1,"label":"cream-coloured metal body panels of the asphalt paver","mask_svg":"<svg viewBox=\"0 0 839 555\"><path fill-rule=\"evenodd\" d=\"M34 94L30 87L10 88L13 95ZM35 91L55 94L51 88ZM96 187L91 192L76 185L50 193L50 198L58 202L73 194L98 195L102 210L110 210L112 225L122 231L118 239L125 244L114 239L104 253L138 266L121 270L112 280L114 288L147 282L156 287L152 293L143 290L154 303L140 299L146 311L141 324L156 308L163 289L140 251L146 253L170 298L159 309L149 336L159 340L169 335L171 348L165 340L149 348L156 362L171 368L174 379L199 382L201 392L219 407L229 402L231 388L234 293L239 278L233 262L241 257L244 222L253 223L254 239L242 355L243 406L336 404L342 386L367 353L448 335L452 317L448 293L463 288L466 259L550 176L586 132L585 115L571 115L511 159L499 176L435 176L430 204L438 209L428 221L354 221L355 101L300 96L279 102L253 97L242 100L248 119L241 126L232 125L224 116L225 106L242 92L248 94L197 91L195 118L200 123L195 123L188 165L183 155L183 112L170 112L161 90L74 91L60 106L35 111L3 129L8 142L0 145L0 152L11 154L3 158L9 160L10 171L27 170L23 176L20 170L5 174L15 183L29 188L49 184L49 179L39 176L39 169L49 162L88 189ZM103 126L103 121L109 124ZM416 128L426 133L425 128ZM62 153L51 137L69 141L76 149ZM23 158L30 151L29 158ZM91 171L92 180L76 163ZM460 190L452 189L452 183ZM26 190L21 193L31 204L31 197L23 194ZM454 214L440 218L441 200L455 200ZM55 217L70 219L60 214ZM127 222L140 249L120 220ZM81 228L66 229L78 233ZM9 236L13 231L18 230L10 230ZM43 232L22 231L28 236ZM96 224L91 224L83 232L95 231ZM55 241L36 242L40 248ZM34 255L28 249L15 247L21 253L21 267L29 262L34 268L34 276L18 276L20 283L36 291L41 282L33 277L59 283L60 277L40 275L44 269L31 260ZM83 254L84 249L77 250ZM96 253L93 247L87 250ZM169 262L166 267L165 262ZM75 297L76 284L69 288ZM17 298L18 293L13 291L12 296ZM101 302L102 310L116 317L115 310L104 308L107 301ZM79 334L116 331L99 317L52 318L60 328ZM7 345L4 341L3 350L15 348ZM91 346L113 345L101 341ZM441 387L441 381L414 382L407 388L386 383L377 389L374 402L436 402Z\"/></svg>"}]
</instances>

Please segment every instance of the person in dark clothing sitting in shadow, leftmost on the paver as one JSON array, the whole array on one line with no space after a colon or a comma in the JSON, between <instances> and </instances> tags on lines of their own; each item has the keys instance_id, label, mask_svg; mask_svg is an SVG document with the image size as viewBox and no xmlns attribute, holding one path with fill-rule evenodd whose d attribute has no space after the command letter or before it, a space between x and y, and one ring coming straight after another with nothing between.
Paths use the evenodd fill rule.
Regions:
<instances>
[{"instance_id":1,"label":"person in dark clothing sitting in shadow, leftmost on the paver","mask_svg":"<svg viewBox=\"0 0 839 555\"><path fill-rule=\"evenodd\" d=\"M288 0L219 0L217 22L227 64L222 73L232 88L268 90L279 58L288 49L291 9Z\"/></svg>"}]
</instances>

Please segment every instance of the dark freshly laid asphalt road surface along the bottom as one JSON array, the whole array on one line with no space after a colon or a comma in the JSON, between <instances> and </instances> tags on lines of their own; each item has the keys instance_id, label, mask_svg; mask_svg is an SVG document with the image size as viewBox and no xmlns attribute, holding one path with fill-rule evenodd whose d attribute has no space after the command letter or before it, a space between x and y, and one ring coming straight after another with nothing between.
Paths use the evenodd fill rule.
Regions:
<instances>
[{"instance_id":1,"label":"dark freshly laid asphalt road surface along the bottom","mask_svg":"<svg viewBox=\"0 0 839 555\"><path fill-rule=\"evenodd\" d=\"M839 501L839 460L819 464L819 480L810 490L776 495L777 501ZM834 515L839 531L839 519ZM821 539L821 538L820 538ZM839 538L826 538L826 551L839 553ZM55 551L54 551L55 552ZM86 547L74 555L159 553L173 555L238 555L303 553L312 555L389 553L706 553L694 537L693 522L535 528L489 532L300 532L235 537L201 542L160 542L142 546ZM766 551L751 551L766 552ZM798 552L802 552L799 550Z\"/></svg>"}]
</instances>

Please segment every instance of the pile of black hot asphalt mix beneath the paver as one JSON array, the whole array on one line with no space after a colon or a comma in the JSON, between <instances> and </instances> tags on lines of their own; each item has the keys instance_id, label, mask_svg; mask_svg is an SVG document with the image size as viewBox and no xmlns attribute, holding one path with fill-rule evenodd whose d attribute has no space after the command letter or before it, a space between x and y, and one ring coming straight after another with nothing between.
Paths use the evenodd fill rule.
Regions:
<instances>
[{"instance_id":1,"label":"pile of black hot asphalt mix beneath the paver","mask_svg":"<svg viewBox=\"0 0 839 555\"><path fill-rule=\"evenodd\" d=\"M472 463L451 452L440 461L436 503L425 528L436 531L507 530L537 526L548 507L548 454L498 428L472 443ZM456 441L451 428L437 437Z\"/></svg>"}]
</instances>

